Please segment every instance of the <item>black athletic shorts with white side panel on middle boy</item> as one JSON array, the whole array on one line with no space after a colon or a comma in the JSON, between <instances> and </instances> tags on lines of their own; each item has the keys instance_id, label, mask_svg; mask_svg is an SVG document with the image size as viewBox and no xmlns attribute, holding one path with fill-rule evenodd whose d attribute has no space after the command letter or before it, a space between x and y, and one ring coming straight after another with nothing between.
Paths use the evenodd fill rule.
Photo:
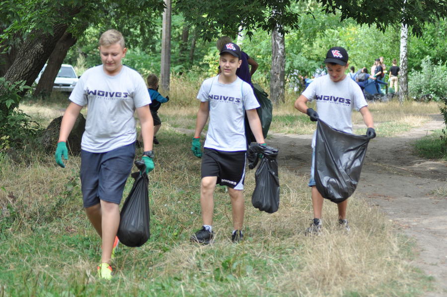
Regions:
<instances>
[{"instance_id":1,"label":"black athletic shorts with white side panel on middle boy","mask_svg":"<svg viewBox=\"0 0 447 297\"><path fill-rule=\"evenodd\" d=\"M235 190L244 189L245 150L223 151L204 148L202 178L217 176L217 183Z\"/></svg>"}]
</instances>

